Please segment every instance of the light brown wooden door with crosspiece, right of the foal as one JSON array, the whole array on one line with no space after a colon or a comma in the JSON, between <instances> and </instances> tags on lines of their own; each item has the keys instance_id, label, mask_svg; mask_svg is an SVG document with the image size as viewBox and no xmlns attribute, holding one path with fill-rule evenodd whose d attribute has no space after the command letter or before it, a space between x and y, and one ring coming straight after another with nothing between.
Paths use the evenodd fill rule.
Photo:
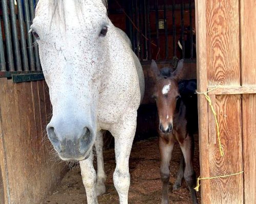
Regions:
<instances>
[{"instance_id":1,"label":"light brown wooden door with crosspiece, right of the foal","mask_svg":"<svg viewBox=\"0 0 256 204\"><path fill-rule=\"evenodd\" d=\"M199 95L202 203L255 203L256 196L256 2L196 0L199 92L208 91L220 124Z\"/></svg>"}]
</instances>

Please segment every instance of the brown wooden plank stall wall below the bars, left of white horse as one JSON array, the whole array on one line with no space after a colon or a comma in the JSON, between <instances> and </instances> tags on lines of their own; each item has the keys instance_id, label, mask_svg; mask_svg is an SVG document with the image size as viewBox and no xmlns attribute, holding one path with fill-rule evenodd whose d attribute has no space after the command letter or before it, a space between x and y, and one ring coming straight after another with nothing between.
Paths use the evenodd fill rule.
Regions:
<instances>
[{"instance_id":1,"label":"brown wooden plank stall wall below the bars, left of white horse","mask_svg":"<svg viewBox=\"0 0 256 204\"><path fill-rule=\"evenodd\" d=\"M0 165L5 194L0 200L41 203L66 172L65 163L54 160L45 138L51 117L48 87L44 81L14 84L4 78L0 87Z\"/></svg>"}]
</instances>

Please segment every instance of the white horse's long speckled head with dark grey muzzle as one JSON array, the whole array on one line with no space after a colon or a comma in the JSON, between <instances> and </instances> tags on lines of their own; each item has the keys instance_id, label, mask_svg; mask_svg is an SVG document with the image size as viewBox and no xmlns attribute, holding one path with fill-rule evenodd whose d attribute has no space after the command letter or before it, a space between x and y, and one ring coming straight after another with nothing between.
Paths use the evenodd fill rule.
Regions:
<instances>
[{"instance_id":1,"label":"white horse's long speckled head with dark grey muzzle","mask_svg":"<svg viewBox=\"0 0 256 204\"><path fill-rule=\"evenodd\" d=\"M31 25L53 107L47 134L63 160L86 159L95 142L111 34L103 1L41 0Z\"/></svg>"}]
</instances>

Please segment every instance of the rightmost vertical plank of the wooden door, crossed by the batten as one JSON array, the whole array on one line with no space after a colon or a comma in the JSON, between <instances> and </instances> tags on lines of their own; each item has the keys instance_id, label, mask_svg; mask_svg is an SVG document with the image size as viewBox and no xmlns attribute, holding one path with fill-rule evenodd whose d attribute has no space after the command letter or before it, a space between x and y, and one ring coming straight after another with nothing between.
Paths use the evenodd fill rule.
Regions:
<instances>
[{"instance_id":1,"label":"rightmost vertical plank of the wooden door, crossed by the batten","mask_svg":"<svg viewBox=\"0 0 256 204\"><path fill-rule=\"evenodd\" d=\"M256 2L240 1L241 81L242 86L256 86ZM256 94L243 95L244 203L256 203Z\"/></svg>"}]
</instances>

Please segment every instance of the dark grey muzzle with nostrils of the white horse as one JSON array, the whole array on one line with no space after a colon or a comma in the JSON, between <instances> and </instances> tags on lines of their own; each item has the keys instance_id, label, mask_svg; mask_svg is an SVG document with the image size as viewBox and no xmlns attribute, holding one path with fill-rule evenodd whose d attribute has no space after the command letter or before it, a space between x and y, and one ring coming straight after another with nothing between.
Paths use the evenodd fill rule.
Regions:
<instances>
[{"instance_id":1,"label":"dark grey muzzle with nostrils of the white horse","mask_svg":"<svg viewBox=\"0 0 256 204\"><path fill-rule=\"evenodd\" d=\"M78 135L65 135L65 132L47 127L48 137L62 160L84 160L89 156L93 143L92 132L84 127Z\"/></svg>"}]
</instances>

